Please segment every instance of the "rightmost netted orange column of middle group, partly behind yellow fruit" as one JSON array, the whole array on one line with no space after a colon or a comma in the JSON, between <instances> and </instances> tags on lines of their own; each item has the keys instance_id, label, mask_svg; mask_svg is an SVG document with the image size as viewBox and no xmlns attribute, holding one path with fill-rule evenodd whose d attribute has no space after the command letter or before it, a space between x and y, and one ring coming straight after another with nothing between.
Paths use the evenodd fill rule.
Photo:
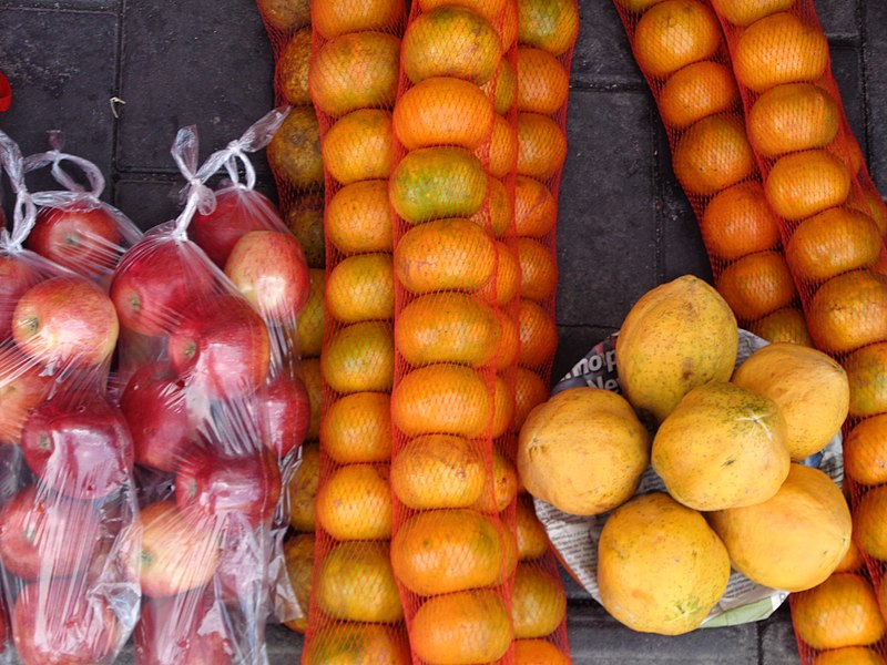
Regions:
<instances>
[{"instance_id":1,"label":"rightmost netted orange column of middle group, partly behind yellow fruit","mask_svg":"<svg viewBox=\"0 0 887 665\"><path fill-rule=\"evenodd\" d=\"M578 6L573 0L519 0L518 24L514 223L521 283L516 431L530 410L548 398L558 341L555 226ZM519 498L518 552L513 595L518 653L541 648L554 662L567 659L567 597L529 494Z\"/></svg>"}]
</instances>

